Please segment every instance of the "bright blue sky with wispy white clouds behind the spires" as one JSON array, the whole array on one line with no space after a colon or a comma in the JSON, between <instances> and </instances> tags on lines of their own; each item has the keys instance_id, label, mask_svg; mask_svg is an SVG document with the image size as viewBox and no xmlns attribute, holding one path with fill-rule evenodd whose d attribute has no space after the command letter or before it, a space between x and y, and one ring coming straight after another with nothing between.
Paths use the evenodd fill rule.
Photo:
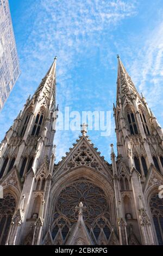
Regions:
<instances>
[{"instance_id":1,"label":"bright blue sky with wispy white clouds behind the spires","mask_svg":"<svg viewBox=\"0 0 163 256\"><path fill-rule=\"evenodd\" d=\"M163 2L98 0L9 0L21 76L0 113L0 139L12 125L29 94L57 60L60 111L112 111L116 101L120 54L139 92L163 126ZM57 161L79 131L57 131ZM89 131L92 142L110 162L111 135Z\"/></svg>"}]
</instances>

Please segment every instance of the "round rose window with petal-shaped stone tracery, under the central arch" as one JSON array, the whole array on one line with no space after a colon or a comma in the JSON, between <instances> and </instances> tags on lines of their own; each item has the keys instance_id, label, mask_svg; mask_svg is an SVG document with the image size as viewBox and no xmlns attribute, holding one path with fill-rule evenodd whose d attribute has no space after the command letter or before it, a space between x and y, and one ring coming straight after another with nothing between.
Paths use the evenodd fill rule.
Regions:
<instances>
[{"instance_id":1,"label":"round rose window with petal-shaped stone tracery, under the central arch","mask_svg":"<svg viewBox=\"0 0 163 256\"><path fill-rule=\"evenodd\" d=\"M65 215L70 222L76 222L78 214L75 206L80 202L86 206L83 217L87 222L92 222L97 216L109 212L104 192L84 178L74 182L60 193L56 211Z\"/></svg>"}]
</instances>

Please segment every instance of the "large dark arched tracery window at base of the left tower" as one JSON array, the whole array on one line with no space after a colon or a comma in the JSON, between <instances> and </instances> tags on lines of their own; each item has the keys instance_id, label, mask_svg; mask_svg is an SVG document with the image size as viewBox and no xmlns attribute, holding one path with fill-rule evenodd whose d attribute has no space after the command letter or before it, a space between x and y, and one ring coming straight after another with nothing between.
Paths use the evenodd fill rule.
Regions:
<instances>
[{"instance_id":1,"label":"large dark arched tracery window at base of the left tower","mask_svg":"<svg viewBox=\"0 0 163 256\"><path fill-rule=\"evenodd\" d=\"M15 211L15 198L11 194L0 199L0 245L5 245L12 216Z\"/></svg>"}]
</instances>

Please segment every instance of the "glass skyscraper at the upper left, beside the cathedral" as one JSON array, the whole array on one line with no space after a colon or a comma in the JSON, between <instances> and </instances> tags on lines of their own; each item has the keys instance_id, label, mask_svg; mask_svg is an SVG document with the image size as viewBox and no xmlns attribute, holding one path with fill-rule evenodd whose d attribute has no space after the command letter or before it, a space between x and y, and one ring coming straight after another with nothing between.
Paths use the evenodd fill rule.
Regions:
<instances>
[{"instance_id":1,"label":"glass skyscraper at the upper left, beside the cathedral","mask_svg":"<svg viewBox=\"0 0 163 256\"><path fill-rule=\"evenodd\" d=\"M8 0L0 0L0 111L20 75Z\"/></svg>"}]
</instances>

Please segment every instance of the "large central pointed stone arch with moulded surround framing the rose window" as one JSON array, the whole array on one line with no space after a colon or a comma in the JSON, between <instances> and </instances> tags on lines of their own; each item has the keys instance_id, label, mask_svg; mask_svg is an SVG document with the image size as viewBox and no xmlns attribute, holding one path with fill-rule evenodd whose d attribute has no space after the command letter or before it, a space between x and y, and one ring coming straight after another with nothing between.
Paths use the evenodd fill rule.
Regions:
<instances>
[{"instance_id":1,"label":"large central pointed stone arch with moulded surround framing the rose window","mask_svg":"<svg viewBox=\"0 0 163 256\"><path fill-rule=\"evenodd\" d=\"M106 244L111 234L111 225L115 224L115 216L112 214L115 211L114 192L109 179L94 169L78 167L64 176L60 175L57 180L52 188L48 214L52 216L53 243L67 242L78 221L75 208L82 202L86 207L83 219L87 233L94 244L100 244L102 236Z\"/></svg>"}]
</instances>

